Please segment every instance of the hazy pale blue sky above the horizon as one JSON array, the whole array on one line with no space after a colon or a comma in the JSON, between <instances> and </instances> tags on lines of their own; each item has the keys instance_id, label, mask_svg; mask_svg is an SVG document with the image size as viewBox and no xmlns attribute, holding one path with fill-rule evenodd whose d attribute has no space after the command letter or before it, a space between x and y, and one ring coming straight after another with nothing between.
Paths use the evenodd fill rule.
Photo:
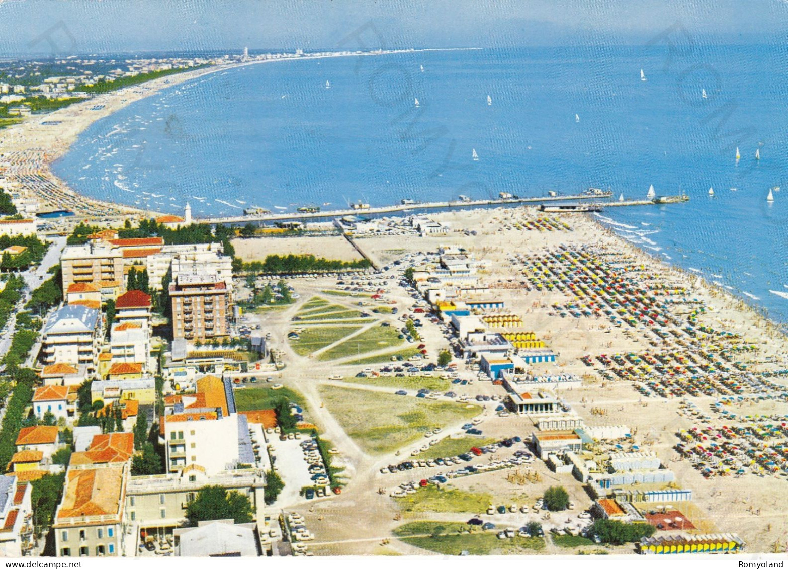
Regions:
<instances>
[{"instance_id":1,"label":"hazy pale blue sky above the horizon","mask_svg":"<svg viewBox=\"0 0 788 569\"><path fill-rule=\"evenodd\" d=\"M677 21L698 42L785 42L788 0L5 0L0 50L330 48L370 22L391 47L615 45Z\"/></svg>"}]
</instances>

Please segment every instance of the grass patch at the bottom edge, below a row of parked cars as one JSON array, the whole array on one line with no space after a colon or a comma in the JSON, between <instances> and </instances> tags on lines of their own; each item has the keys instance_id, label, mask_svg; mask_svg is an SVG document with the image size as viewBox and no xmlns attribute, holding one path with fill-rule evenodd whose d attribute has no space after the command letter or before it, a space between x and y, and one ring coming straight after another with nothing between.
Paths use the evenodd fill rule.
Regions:
<instances>
[{"instance_id":1,"label":"grass patch at the bottom edge, below a row of parked cars","mask_svg":"<svg viewBox=\"0 0 788 569\"><path fill-rule=\"evenodd\" d=\"M498 539L495 531L481 530L474 530L472 534L459 534L458 526L463 526L463 530L469 527L448 522L414 522L396 528L394 534L407 544L443 555L459 555L463 551L470 555L517 555L539 552L545 548L545 541L541 537ZM441 527L444 530L440 530ZM435 537L407 537L414 534L430 534Z\"/></svg>"}]
</instances>

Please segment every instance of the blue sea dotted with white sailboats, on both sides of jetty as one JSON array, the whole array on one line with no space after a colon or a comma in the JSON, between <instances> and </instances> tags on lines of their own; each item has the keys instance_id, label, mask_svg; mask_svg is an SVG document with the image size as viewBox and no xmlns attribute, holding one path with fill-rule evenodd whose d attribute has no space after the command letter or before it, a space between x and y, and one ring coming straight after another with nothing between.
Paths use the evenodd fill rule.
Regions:
<instances>
[{"instance_id":1,"label":"blue sea dotted with white sailboats, on both sides of jetty","mask_svg":"<svg viewBox=\"0 0 788 569\"><path fill-rule=\"evenodd\" d=\"M690 201L603 221L785 323L784 62L779 46L669 58L663 44L273 61L135 102L54 170L85 195L196 216L589 187L637 199L653 184Z\"/></svg>"}]
</instances>

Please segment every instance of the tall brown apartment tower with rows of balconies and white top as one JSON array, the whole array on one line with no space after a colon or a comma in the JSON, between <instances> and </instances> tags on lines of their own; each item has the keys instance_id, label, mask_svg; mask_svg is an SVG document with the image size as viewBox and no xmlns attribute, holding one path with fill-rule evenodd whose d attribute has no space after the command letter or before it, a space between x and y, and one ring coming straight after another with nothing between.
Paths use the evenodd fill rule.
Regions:
<instances>
[{"instance_id":1,"label":"tall brown apartment tower with rows of balconies and white top","mask_svg":"<svg viewBox=\"0 0 788 569\"><path fill-rule=\"evenodd\" d=\"M230 293L216 273L180 273L169 285L173 338L210 340L230 333Z\"/></svg>"}]
</instances>

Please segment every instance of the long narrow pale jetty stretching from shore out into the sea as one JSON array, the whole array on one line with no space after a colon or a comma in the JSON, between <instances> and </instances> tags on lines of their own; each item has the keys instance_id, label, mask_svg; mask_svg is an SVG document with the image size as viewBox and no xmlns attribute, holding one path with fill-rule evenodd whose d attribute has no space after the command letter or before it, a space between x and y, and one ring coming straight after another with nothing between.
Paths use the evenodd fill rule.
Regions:
<instances>
[{"instance_id":1,"label":"long narrow pale jetty stretching from shore out into the sea","mask_svg":"<svg viewBox=\"0 0 788 569\"><path fill-rule=\"evenodd\" d=\"M199 218L195 221L199 221L200 223L214 224L244 223L247 221L284 221L315 218L340 218L344 215L396 214L401 211L411 210L438 210L479 206L514 205L519 203L567 202L577 199L610 198L612 195L612 192L600 192L598 194L550 195L548 197L536 198L472 199L468 201L456 200L451 202L403 203L392 206L348 208L347 210L314 211L309 213L294 212L292 214L243 214L223 218ZM610 205L610 203L604 203L604 205L607 206Z\"/></svg>"}]
</instances>

